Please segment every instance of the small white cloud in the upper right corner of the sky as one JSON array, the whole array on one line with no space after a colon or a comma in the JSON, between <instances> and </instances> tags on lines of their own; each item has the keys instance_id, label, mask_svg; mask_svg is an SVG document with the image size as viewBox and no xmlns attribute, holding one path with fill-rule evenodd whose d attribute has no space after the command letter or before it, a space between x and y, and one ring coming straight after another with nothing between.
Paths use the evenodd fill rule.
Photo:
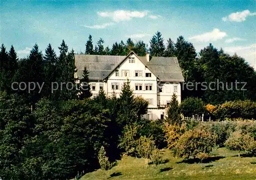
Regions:
<instances>
[{"instance_id":1,"label":"small white cloud in the upper right corner of the sky","mask_svg":"<svg viewBox=\"0 0 256 180\"><path fill-rule=\"evenodd\" d=\"M248 16L254 16L256 15L256 12L251 13L248 9L241 11L241 12L234 12L229 14L226 17L222 17L223 21L236 21L236 22L242 22L246 20L246 17Z\"/></svg>"}]
</instances>

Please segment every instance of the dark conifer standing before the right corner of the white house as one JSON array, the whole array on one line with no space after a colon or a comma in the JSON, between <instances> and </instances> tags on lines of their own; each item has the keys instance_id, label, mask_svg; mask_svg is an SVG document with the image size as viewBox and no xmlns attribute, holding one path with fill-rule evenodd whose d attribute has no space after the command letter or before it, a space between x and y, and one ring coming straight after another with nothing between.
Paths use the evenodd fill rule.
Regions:
<instances>
[{"instance_id":1,"label":"dark conifer standing before the right corner of the white house","mask_svg":"<svg viewBox=\"0 0 256 180\"><path fill-rule=\"evenodd\" d=\"M167 111L167 117L165 118L165 120L169 124L174 124L174 123L182 124L179 102L177 100L176 94L173 94L172 100L170 101L168 111Z\"/></svg>"}]
</instances>

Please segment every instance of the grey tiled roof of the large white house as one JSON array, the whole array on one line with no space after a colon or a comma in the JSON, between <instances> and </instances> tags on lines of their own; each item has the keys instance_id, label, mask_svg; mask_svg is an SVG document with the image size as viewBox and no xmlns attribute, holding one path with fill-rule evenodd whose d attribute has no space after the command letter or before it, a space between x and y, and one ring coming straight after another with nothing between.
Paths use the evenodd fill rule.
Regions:
<instances>
[{"instance_id":1,"label":"grey tiled roof of the large white house","mask_svg":"<svg viewBox=\"0 0 256 180\"><path fill-rule=\"evenodd\" d=\"M108 77L126 57L76 54L75 65L78 78L82 77L82 71L86 66L91 80L102 80ZM146 61L145 56L137 57L161 81L184 82L177 57L152 57L150 62Z\"/></svg>"}]
</instances>

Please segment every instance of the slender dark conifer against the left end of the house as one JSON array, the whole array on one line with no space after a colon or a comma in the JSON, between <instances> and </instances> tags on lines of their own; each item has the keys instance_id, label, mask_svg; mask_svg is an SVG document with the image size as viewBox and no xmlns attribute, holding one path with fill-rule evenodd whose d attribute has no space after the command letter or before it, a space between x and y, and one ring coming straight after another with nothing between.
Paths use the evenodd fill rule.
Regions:
<instances>
[{"instance_id":1,"label":"slender dark conifer against the left end of the house","mask_svg":"<svg viewBox=\"0 0 256 180\"><path fill-rule=\"evenodd\" d=\"M90 98L92 96L90 85L89 85L89 72L86 69L86 66L84 66L82 79L80 80L80 95L79 99L83 100L86 98Z\"/></svg>"}]
</instances>

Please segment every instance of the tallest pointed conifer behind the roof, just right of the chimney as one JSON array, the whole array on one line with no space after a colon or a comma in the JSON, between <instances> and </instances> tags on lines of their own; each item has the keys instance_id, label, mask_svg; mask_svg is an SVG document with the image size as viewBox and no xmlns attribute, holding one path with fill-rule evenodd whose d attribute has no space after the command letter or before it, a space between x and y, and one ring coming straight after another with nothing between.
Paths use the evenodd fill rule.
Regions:
<instances>
[{"instance_id":1,"label":"tallest pointed conifer behind the roof, just right of the chimney","mask_svg":"<svg viewBox=\"0 0 256 180\"><path fill-rule=\"evenodd\" d=\"M150 54L151 56L163 56L164 50L162 34L157 31L150 41Z\"/></svg>"}]
</instances>

